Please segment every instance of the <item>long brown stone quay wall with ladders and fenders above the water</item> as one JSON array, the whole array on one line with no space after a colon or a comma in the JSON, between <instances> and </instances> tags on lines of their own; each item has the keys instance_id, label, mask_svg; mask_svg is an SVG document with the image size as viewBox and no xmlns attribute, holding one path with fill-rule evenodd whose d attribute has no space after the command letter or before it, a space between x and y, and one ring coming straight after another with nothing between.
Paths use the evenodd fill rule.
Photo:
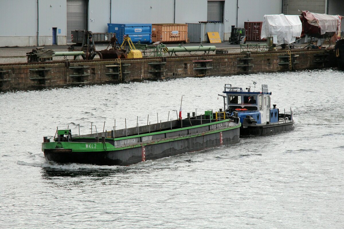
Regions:
<instances>
[{"instance_id":1,"label":"long brown stone quay wall with ladders and fenders above the water","mask_svg":"<svg viewBox=\"0 0 344 229\"><path fill-rule=\"evenodd\" d=\"M0 65L0 90L119 83L152 78L200 77L289 70L287 52L161 57L97 61L58 61ZM292 70L331 67L332 50L291 52Z\"/></svg>"}]
</instances>

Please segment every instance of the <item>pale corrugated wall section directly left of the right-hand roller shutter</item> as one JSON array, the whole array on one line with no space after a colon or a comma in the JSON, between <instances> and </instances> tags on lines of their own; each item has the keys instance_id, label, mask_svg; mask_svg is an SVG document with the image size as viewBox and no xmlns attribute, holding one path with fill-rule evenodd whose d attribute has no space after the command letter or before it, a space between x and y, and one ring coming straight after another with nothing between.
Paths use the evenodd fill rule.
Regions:
<instances>
[{"instance_id":1,"label":"pale corrugated wall section directly left of the right-hand roller shutter","mask_svg":"<svg viewBox=\"0 0 344 229\"><path fill-rule=\"evenodd\" d=\"M206 20L207 0L175 0L175 23L197 23Z\"/></svg>"}]
</instances>

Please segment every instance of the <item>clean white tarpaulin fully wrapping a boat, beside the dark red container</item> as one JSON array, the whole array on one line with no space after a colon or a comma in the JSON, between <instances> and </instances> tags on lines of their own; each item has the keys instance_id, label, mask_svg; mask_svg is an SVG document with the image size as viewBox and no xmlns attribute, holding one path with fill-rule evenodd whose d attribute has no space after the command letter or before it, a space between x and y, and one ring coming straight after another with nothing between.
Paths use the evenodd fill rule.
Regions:
<instances>
[{"instance_id":1,"label":"clean white tarpaulin fully wrapping a boat, beside the dark red container","mask_svg":"<svg viewBox=\"0 0 344 229\"><path fill-rule=\"evenodd\" d=\"M299 15L264 15L260 38L277 35L277 44L290 44L300 37L302 23Z\"/></svg>"}]
</instances>

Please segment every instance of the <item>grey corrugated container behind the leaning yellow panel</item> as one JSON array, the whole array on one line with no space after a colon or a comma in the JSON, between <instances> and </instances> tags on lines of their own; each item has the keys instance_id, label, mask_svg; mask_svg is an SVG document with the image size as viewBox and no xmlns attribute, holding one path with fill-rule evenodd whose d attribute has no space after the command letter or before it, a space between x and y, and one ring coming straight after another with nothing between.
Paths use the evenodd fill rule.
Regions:
<instances>
[{"instance_id":1,"label":"grey corrugated container behind the leaning yellow panel","mask_svg":"<svg viewBox=\"0 0 344 229\"><path fill-rule=\"evenodd\" d=\"M223 41L223 23L186 23L187 34L192 43L209 42L207 32L218 32Z\"/></svg>"}]
</instances>

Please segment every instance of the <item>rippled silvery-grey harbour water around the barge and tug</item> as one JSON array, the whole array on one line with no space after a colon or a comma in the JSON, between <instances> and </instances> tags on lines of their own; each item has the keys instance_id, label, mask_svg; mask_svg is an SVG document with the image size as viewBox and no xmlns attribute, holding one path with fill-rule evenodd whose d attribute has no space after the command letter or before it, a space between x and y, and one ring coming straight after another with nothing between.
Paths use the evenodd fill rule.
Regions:
<instances>
[{"instance_id":1,"label":"rippled silvery-grey harbour water around the barge and tug","mask_svg":"<svg viewBox=\"0 0 344 229\"><path fill-rule=\"evenodd\" d=\"M0 227L344 228L342 79L329 69L0 93ZM253 81L292 108L292 131L129 167L60 165L41 151L57 126L167 121L181 95L183 116L217 110L225 83Z\"/></svg>"}]
</instances>

